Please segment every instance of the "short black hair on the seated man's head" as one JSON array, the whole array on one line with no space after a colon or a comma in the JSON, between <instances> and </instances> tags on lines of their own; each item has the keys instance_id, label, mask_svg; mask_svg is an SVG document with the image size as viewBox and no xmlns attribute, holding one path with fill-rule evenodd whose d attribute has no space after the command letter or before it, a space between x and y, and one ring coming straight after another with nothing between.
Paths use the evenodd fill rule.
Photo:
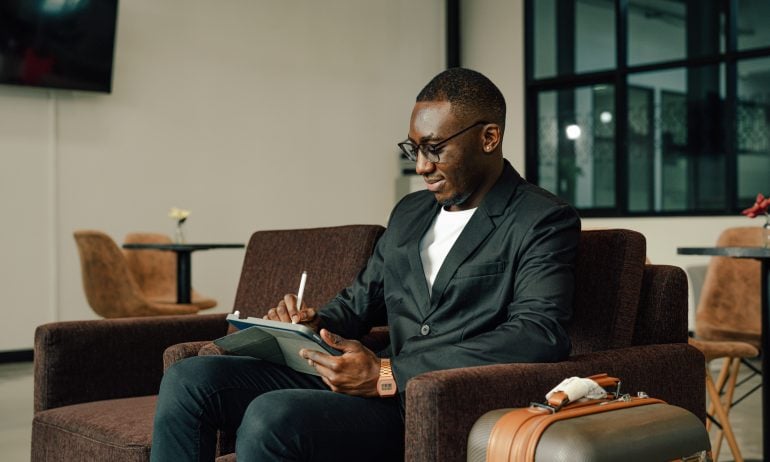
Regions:
<instances>
[{"instance_id":1,"label":"short black hair on the seated man's head","mask_svg":"<svg viewBox=\"0 0 770 462\"><path fill-rule=\"evenodd\" d=\"M505 127L503 94L486 76L471 69L453 67L433 77L417 95L417 102L422 101L448 101L458 118Z\"/></svg>"}]
</instances>

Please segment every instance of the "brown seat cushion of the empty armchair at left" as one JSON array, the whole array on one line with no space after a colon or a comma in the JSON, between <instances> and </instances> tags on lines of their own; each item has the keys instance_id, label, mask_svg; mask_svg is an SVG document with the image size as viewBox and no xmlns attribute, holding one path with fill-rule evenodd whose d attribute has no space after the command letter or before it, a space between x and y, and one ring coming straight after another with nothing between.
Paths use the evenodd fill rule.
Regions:
<instances>
[{"instance_id":1,"label":"brown seat cushion of the empty armchair at left","mask_svg":"<svg viewBox=\"0 0 770 462\"><path fill-rule=\"evenodd\" d=\"M32 460L148 461L156 400L141 396L37 412Z\"/></svg>"}]
</instances>

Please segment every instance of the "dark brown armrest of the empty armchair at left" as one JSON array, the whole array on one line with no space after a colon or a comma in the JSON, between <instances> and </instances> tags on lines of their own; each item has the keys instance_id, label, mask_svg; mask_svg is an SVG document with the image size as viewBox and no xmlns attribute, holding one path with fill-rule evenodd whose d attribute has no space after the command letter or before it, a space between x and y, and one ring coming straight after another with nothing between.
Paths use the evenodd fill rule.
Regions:
<instances>
[{"instance_id":1,"label":"dark brown armrest of the empty armchair at left","mask_svg":"<svg viewBox=\"0 0 770 462\"><path fill-rule=\"evenodd\" d=\"M224 335L224 314L99 319L35 330L35 411L158 392L163 351Z\"/></svg>"}]
</instances>

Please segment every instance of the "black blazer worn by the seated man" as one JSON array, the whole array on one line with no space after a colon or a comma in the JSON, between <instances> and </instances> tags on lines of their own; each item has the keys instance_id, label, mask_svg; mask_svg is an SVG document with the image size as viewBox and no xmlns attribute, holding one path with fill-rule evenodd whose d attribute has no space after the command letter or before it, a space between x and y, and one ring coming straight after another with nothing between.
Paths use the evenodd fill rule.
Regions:
<instances>
[{"instance_id":1,"label":"black blazer worn by the seated man","mask_svg":"<svg viewBox=\"0 0 770 462\"><path fill-rule=\"evenodd\" d=\"M404 197L367 266L320 310L321 325L360 338L387 323L401 392L427 371L565 358L580 235L575 210L505 161L429 296L420 239L439 207L429 191Z\"/></svg>"}]
</instances>

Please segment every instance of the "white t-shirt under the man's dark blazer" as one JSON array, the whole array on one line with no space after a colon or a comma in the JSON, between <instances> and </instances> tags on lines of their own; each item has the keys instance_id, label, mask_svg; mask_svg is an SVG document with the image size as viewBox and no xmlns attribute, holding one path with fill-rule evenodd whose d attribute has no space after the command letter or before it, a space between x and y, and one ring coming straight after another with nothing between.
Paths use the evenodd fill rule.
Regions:
<instances>
[{"instance_id":1,"label":"white t-shirt under the man's dark blazer","mask_svg":"<svg viewBox=\"0 0 770 462\"><path fill-rule=\"evenodd\" d=\"M425 280L428 281L428 291L432 293L433 282L441 265L444 263L449 250L460 236L465 225L471 219L476 209L450 212L443 207L441 212L433 219L428 231L420 241L420 259L422 269L425 272Z\"/></svg>"}]
</instances>

